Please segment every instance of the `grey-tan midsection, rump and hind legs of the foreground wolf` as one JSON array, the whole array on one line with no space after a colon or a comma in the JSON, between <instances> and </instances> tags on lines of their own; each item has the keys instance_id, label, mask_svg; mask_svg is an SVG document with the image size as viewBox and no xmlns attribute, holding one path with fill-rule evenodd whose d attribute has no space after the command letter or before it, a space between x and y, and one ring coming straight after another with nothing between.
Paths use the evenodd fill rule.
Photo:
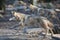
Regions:
<instances>
[{"instance_id":1,"label":"grey-tan midsection, rump and hind legs of the foreground wolf","mask_svg":"<svg viewBox=\"0 0 60 40\"><path fill-rule=\"evenodd\" d=\"M31 17L28 21L28 25L41 25L45 29L46 35L49 33L49 30L51 31L51 36L53 36L53 24L45 17ZM32 24L33 23L33 24Z\"/></svg>"}]
</instances>

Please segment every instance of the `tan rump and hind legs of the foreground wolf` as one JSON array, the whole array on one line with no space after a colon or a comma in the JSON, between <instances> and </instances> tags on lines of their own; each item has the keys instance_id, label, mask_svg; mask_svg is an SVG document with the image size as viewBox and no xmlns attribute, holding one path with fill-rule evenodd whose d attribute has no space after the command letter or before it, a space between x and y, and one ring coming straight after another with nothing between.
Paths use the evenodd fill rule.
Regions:
<instances>
[{"instance_id":1,"label":"tan rump and hind legs of the foreground wolf","mask_svg":"<svg viewBox=\"0 0 60 40\"><path fill-rule=\"evenodd\" d=\"M43 25L42 25L42 24ZM47 36L47 34L49 33L49 30L51 31L51 36L53 36L53 31L52 31L52 29L53 29L53 24L48 20L48 19L42 19L41 20L41 26L46 30L46 35L45 36Z\"/></svg>"}]
</instances>

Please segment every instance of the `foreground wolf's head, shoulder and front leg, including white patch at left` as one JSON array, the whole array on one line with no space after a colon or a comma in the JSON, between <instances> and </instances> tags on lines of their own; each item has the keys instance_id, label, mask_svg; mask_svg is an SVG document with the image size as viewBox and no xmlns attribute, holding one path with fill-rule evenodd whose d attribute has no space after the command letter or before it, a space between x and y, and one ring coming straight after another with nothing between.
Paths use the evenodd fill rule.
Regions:
<instances>
[{"instance_id":1,"label":"foreground wolf's head, shoulder and front leg, including white patch at left","mask_svg":"<svg viewBox=\"0 0 60 40\"><path fill-rule=\"evenodd\" d=\"M25 20L27 20L28 17L31 16L31 15L27 15L27 14L20 13L20 12L15 12L15 11L12 11L12 15L14 17L10 18L9 21L17 19L17 20L20 21L19 24L21 24L22 27L24 26Z\"/></svg>"}]
</instances>

